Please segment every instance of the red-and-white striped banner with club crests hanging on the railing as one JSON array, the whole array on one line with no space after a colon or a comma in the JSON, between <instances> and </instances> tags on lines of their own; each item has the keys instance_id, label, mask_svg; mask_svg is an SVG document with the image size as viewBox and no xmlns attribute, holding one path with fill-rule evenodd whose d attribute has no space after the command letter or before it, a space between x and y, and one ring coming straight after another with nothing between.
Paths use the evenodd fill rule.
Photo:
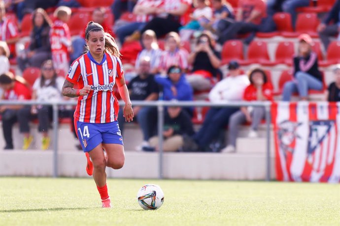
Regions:
<instances>
[{"instance_id":1,"label":"red-and-white striped banner with club crests hanging on the railing","mask_svg":"<svg viewBox=\"0 0 340 226\"><path fill-rule=\"evenodd\" d=\"M277 180L340 182L340 103L278 102L272 119Z\"/></svg>"}]
</instances>

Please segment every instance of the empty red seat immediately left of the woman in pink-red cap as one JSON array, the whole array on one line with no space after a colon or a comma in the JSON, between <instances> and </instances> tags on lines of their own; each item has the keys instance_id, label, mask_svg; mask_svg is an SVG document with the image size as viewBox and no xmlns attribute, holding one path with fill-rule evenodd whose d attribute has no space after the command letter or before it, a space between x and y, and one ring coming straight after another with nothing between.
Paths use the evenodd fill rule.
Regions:
<instances>
[{"instance_id":1,"label":"empty red seat immediately left of the woman in pink-red cap","mask_svg":"<svg viewBox=\"0 0 340 226\"><path fill-rule=\"evenodd\" d=\"M275 66L276 64L284 63L291 65L294 56L293 42L279 42L275 51L275 60L264 62L265 66Z\"/></svg>"}]
</instances>

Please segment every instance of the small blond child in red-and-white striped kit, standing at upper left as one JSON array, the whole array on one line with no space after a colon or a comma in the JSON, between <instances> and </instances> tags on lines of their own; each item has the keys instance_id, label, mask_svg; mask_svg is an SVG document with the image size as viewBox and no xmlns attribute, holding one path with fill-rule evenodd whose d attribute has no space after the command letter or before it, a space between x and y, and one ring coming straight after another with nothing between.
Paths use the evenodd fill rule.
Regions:
<instances>
[{"instance_id":1,"label":"small blond child in red-and-white striped kit, standing at upper left","mask_svg":"<svg viewBox=\"0 0 340 226\"><path fill-rule=\"evenodd\" d=\"M69 68L69 53L72 51L71 34L66 24L71 16L71 9L67 6L59 6L54 11L57 18L50 31L53 65L59 75L65 76Z\"/></svg>"}]
</instances>

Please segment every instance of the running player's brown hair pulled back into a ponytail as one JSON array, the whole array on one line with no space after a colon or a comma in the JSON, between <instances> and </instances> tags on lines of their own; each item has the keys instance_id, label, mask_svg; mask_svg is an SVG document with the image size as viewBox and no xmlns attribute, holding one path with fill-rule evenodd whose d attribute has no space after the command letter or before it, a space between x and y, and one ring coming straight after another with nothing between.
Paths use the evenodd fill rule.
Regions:
<instances>
[{"instance_id":1,"label":"running player's brown hair pulled back into a ponytail","mask_svg":"<svg viewBox=\"0 0 340 226\"><path fill-rule=\"evenodd\" d=\"M104 31L104 28L98 23L95 23L93 21L90 21L85 29L85 39L88 39L89 33L91 31L99 31L102 30ZM110 55L113 55L115 57L120 57L120 52L118 49L118 45L114 38L107 32L104 32L104 39L105 39L105 46L104 46L104 51Z\"/></svg>"}]
</instances>

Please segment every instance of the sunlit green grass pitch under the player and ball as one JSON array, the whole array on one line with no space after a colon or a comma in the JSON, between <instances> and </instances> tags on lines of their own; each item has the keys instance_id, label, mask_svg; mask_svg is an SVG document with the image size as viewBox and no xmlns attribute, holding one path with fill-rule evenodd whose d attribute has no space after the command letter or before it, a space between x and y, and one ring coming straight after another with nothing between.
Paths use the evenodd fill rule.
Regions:
<instances>
[{"instance_id":1,"label":"sunlit green grass pitch under the player and ball","mask_svg":"<svg viewBox=\"0 0 340 226\"><path fill-rule=\"evenodd\" d=\"M165 194L142 210L138 189ZM340 185L281 182L109 179L102 209L92 178L0 177L0 226L340 225Z\"/></svg>"}]
</instances>

